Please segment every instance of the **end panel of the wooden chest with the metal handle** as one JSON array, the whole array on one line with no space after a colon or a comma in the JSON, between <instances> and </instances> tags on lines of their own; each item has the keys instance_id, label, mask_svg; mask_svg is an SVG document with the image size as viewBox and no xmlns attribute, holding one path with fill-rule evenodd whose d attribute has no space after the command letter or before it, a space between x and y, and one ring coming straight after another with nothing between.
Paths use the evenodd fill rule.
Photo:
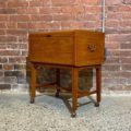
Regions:
<instances>
[{"instance_id":1,"label":"end panel of the wooden chest with the metal handle","mask_svg":"<svg viewBox=\"0 0 131 131\"><path fill-rule=\"evenodd\" d=\"M78 33L76 66L102 64L105 58L105 35L103 33Z\"/></svg>"}]
</instances>

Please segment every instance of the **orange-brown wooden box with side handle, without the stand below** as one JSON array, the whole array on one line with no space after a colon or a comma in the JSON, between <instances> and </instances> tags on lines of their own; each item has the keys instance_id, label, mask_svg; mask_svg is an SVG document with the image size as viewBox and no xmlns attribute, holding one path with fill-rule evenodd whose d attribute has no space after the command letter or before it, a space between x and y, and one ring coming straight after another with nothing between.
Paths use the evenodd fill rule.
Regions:
<instances>
[{"instance_id":1,"label":"orange-brown wooden box with side handle, without the stand below","mask_svg":"<svg viewBox=\"0 0 131 131\"><path fill-rule=\"evenodd\" d=\"M29 35L29 59L66 66L104 62L105 35L90 31L34 33Z\"/></svg>"}]
</instances>

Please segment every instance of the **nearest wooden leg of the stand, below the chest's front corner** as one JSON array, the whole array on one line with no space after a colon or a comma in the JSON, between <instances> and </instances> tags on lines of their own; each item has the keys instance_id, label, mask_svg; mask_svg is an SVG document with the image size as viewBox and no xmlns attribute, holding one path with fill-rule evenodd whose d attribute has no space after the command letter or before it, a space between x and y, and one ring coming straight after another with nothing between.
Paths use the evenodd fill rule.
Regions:
<instances>
[{"instance_id":1,"label":"nearest wooden leg of the stand, below the chest's front corner","mask_svg":"<svg viewBox=\"0 0 131 131\"><path fill-rule=\"evenodd\" d=\"M78 108L78 83L79 83L79 69L72 68L72 117L75 117Z\"/></svg>"}]
</instances>

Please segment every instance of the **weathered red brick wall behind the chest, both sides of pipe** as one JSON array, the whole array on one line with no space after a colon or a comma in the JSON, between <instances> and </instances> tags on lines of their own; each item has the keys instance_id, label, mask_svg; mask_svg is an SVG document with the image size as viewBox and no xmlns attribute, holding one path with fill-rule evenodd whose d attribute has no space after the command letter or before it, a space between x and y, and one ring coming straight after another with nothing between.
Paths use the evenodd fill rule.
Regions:
<instances>
[{"instance_id":1,"label":"weathered red brick wall behind the chest, both sides of pipe","mask_svg":"<svg viewBox=\"0 0 131 131\"><path fill-rule=\"evenodd\" d=\"M100 5L102 0L1 0L0 88L26 85L29 32L102 29ZM131 0L106 0L106 47L103 91L130 91Z\"/></svg>"}]
</instances>

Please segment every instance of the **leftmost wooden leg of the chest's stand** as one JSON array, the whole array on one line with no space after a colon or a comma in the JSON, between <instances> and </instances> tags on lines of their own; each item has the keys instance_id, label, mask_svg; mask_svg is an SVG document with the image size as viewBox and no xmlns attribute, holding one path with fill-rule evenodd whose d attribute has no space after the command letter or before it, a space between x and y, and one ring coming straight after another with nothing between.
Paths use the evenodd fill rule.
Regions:
<instances>
[{"instance_id":1,"label":"leftmost wooden leg of the chest's stand","mask_svg":"<svg viewBox=\"0 0 131 131\"><path fill-rule=\"evenodd\" d=\"M31 64L31 103L35 102L36 96L36 69L35 66Z\"/></svg>"}]
</instances>

